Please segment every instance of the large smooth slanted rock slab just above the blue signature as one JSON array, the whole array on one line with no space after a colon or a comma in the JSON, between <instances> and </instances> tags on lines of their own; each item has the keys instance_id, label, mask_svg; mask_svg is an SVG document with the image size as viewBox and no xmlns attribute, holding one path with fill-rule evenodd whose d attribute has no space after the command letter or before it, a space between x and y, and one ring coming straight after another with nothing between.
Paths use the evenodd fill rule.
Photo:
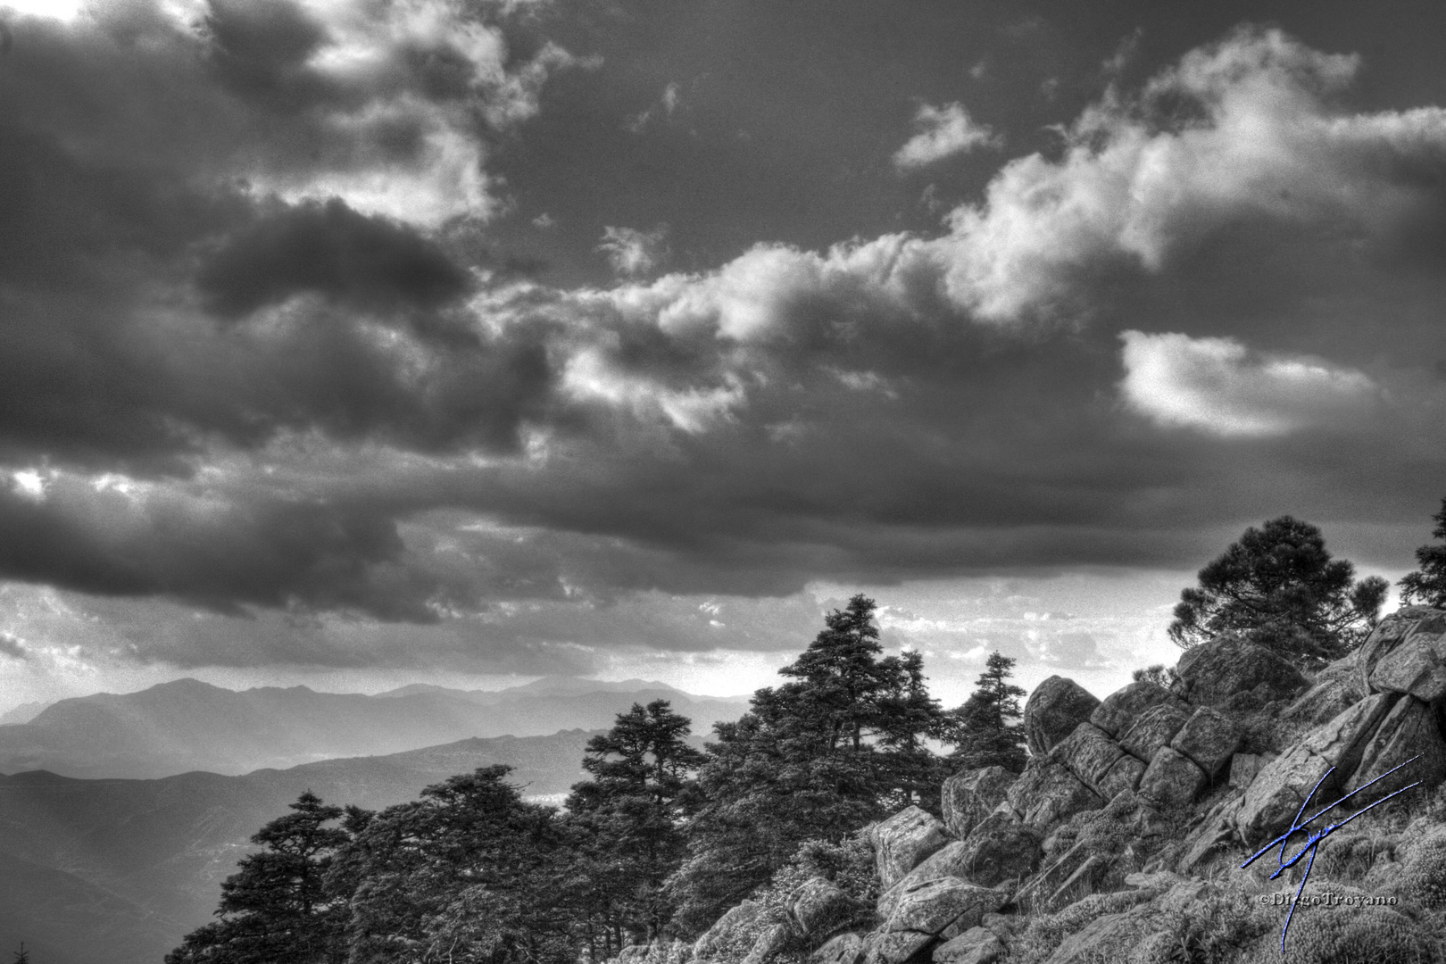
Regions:
<instances>
[{"instance_id":1,"label":"large smooth slanted rock slab just above the blue signature","mask_svg":"<svg viewBox=\"0 0 1446 964\"><path fill-rule=\"evenodd\" d=\"M1345 778L1359 766L1366 741L1397 700L1398 694L1374 694L1316 727L1261 767L1246 788L1241 808L1239 828L1245 841L1258 845L1287 830L1330 767L1336 767L1333 779L1322 785L1316 799L1322 806L1338 799Z\"/></svg>"}]
</instances>

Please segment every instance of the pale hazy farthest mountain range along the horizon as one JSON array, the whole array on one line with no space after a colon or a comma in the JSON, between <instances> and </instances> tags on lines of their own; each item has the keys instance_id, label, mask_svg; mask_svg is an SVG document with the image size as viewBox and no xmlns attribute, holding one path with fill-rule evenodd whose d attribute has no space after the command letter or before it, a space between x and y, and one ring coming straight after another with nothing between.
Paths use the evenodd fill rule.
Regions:
<instances>
[{"instance_id":1,"label":"pale hazy farthest mountain range along the horizon","mask_svg":"<svg viewBox=\"0 0 1446 964\"><path fill-rule=\"evenodd\" d=\"M233 691L176 679L140 692L61 700L0 726L0 773L162 778L239 775L314 760L399 753L469 737L599 730L633 702L668 700L706 736L746 698L694 697L661 682L548 676L500 691L416 684L379 695L307 687ZM23 715L25 707L14 714Z\"/></svg>"}]
</instances>

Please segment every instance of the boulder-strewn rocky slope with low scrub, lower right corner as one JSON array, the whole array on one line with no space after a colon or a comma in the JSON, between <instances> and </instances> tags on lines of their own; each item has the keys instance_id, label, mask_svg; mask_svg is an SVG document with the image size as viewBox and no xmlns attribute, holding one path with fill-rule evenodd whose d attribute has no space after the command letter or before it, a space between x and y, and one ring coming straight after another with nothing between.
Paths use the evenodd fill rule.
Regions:
<instances>
[{"instance_id":1,"label":"boulder-strewn rocky slope with low scrub, lower right corner","mask_svg":"<svg viewBox=\"0 0 1446 964\"><path fill-rule=\"evenodd\" d=\"M1235 637L1187 650L1170 689L1099 701L1053 678L1025 707L1022 775L959 773L943 821L912 806L860 835L863 879L804 861L694 944L623 964L1280 961L1306 861L1275 880L1278 847L1241 864L1317 785L1306 817L1365 786L1332 822L1408 789L1322 840L1285 960L1443 964L1443 724L1436 608L1400 610L1314 679Z\"/></svg>"}]
</instances>

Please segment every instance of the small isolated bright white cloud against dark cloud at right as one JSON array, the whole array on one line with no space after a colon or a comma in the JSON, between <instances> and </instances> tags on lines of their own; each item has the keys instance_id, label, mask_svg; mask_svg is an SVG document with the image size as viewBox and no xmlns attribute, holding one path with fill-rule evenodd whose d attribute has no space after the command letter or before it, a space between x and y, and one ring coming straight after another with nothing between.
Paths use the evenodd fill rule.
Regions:
<instances>
[{"instance_id":1,"label":"small isolated bright white cloud against dark cloud at right","mask_svg":"<svg viewBox=\"0 0 1446 964\"><path fill-rule=\"evenodd\" d=\"M1281 435L1368 406L1361 371L1310 357L1252 354L1233 338L1126 331L1126 405L1158 425L1213 435Z\"/></svg>"}]
</instances>

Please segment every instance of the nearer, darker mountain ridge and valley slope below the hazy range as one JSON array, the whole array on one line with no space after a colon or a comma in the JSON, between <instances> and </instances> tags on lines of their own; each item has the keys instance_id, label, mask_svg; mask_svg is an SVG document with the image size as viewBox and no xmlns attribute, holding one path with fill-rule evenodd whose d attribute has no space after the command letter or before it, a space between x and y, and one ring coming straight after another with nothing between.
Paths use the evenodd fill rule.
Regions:
<instances>
[{"instance_id":1,"label":"nearer, darker mountain ridge and valley slope below the hazy range","mask_svg":"<svg viewBox=\"0 0 1446 964\"><path fill-rule=\"evenodd\" d=\"M508 763L525 795L557 799L586 778L591 733L469 739L244 776L0 776L0 952L23 939L36 964L159 964L211 919L250 835L302 791L380 809L454 773Z\"/></svg>"}]
</instances>

